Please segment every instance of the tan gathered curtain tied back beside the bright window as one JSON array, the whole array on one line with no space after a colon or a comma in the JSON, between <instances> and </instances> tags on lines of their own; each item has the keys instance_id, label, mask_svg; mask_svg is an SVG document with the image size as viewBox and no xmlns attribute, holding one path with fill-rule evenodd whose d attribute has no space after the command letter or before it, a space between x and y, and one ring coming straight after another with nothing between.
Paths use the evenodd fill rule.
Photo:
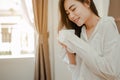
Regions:
<instances>
[{"instance_id":1,"label":"tan gathered curtain tied back beside the bright window","mask_svg":"<svg viewBox=\"0 0 120 80\"><path fill-rule=\"evenodd\" d=\"M35 55L35 79L51 80L48 48L48 0L33 0L35 26L39 34Z\"/></svg>"}]
</instances>

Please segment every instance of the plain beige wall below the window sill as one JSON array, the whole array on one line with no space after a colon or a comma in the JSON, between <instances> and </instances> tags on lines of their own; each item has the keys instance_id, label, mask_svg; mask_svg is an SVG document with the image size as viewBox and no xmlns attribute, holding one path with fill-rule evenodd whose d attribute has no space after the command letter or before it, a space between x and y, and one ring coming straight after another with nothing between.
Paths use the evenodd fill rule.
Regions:
<instances>
[{"instance_id":1,"label":"plain beige wall below the window sill","mask_svg":"<svg viewBox=\"0 0 120 80\"><path fill-rule=\"evenodd\" d=\"M34 80L34 57L0 58L0 80Z\"/></svg>"}]
</instances>

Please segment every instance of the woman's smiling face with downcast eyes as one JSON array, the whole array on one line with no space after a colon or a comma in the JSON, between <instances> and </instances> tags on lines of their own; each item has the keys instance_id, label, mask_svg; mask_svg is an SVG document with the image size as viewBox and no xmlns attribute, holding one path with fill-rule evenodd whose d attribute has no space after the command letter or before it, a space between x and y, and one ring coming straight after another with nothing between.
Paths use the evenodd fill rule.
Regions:
<instances>
[{"instance_id":1,"label":"woman's smiling face with downcast eyes","mask_svg":"<svg viewBox=\"0 0 120 80\"><path fill-rule=\"evenodd\" d=\"M77 0L65 0L64 8L69 20L77 26L85 24L90 17L89 5L86 3L83 4Z\"/></svg>"}]
</instances>

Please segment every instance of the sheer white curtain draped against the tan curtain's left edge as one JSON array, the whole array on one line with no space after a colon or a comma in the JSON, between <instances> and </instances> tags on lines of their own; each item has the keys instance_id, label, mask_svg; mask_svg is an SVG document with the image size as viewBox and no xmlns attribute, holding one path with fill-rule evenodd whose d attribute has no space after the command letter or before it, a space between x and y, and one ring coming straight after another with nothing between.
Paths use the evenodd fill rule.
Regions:
<instances>
[{"instance_id":1,"label":"sheer white curtain draped against the tan curtain's left edge","mask_svg":"<svg viewBox=\"0 0 120 80\"><path fill-rule=\"evenodd\" d=\"M37 51L37 44L38 44L38 32L36 30L35 27L35 23L34 23L34 12L33 12L33 4L32 4L32 0L20 0L21 3L21 14L24 17L24 19L26 20L26 22L30 25L30 27L33 28L34 33L35 33L35 53Z\"/></svg>"}]
</instances>

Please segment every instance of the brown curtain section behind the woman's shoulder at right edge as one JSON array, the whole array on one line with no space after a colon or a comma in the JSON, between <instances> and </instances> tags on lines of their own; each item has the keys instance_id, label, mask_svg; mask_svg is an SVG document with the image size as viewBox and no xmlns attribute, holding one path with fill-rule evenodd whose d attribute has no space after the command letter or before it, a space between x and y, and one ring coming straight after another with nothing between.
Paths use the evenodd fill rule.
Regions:
<instances>
[{"instance_id":1,"label":"brown curtain section behind the woman's shoulder at right edge","mask_svg":"<svg viewBox=\"0 0 120 80\"><path fill-rule=\"evenodd\" d=\"M118 30L120 32L120 0L110 0L108 15L115 18Z\"/></svg>"}]
</instances>

